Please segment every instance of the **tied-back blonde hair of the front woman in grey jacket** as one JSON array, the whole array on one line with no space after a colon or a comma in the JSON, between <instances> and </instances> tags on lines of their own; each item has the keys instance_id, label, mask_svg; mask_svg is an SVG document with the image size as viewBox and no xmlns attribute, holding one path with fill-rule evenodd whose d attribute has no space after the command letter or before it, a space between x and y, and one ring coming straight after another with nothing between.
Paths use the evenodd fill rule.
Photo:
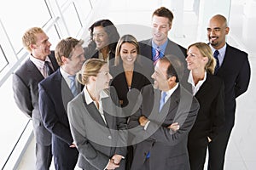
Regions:
<instances>
[{"instance_id":1,"label":"tied-back blonde hair of the front woman in grey jacket","mask_svg":"<svg viewBox=\"0 0 256 170\"><path fill-rule=\"evenodd\" d=\"M103 65L107 65L108 62L103 59L88 59L82 66L81 73L79 74L79 82L81 84L87 84L89 77L96 77Z\"/></svg>"}]
</instances>

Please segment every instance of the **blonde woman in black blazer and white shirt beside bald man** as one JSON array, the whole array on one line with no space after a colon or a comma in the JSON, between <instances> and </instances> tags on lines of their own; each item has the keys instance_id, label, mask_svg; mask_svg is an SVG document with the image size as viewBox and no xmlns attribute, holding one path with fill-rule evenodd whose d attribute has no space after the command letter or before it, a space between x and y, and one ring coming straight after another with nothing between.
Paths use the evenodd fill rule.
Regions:
<instances>
[{"instance_id":1,"label":"blonde woman in black blazer and white shirt beside bald man","mask_svg":"<svg viewBox=\"0 0 256 170\"><path fill-rule=\"evenodd\" d=\"M220 127L224 125L224 82L213 76L216 60L206 43L191 44L187 54L188 82L200 103L195 124L189 132L189 162L191 170L203 170L207 146L218 138Z\"/></svg>"}]
</instances>

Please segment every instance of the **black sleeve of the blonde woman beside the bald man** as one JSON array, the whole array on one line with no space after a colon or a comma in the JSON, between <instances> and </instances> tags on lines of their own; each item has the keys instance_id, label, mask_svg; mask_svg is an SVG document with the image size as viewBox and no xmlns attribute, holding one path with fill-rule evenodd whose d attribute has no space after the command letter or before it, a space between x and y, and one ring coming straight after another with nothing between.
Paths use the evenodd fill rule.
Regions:
<instances>
[{"instance_id":1,"label":"black sleeve of the blonde woman beside the bald man","mask_svg":"<svg viewBox=\"0 0 256 170\"><path fill-rule=\"evenodd\" d=\"M221 83L221 86L218 91L216 99L214 99L213 104L211 105L211 119L212 119L212 130L209 134L209 138L212 141L218 135L218 132L221 127L224 125L225 112L224 112L224 82Z\"/></svg>"}]
</instances>

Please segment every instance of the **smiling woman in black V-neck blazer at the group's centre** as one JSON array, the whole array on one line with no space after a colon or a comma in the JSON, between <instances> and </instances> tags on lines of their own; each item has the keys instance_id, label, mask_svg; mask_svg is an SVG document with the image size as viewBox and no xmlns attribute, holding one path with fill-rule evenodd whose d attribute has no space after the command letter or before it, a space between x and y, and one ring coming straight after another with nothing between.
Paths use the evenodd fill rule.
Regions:
<instances>
[{"instance_id":1,"label":"smiling woman in black V-neck blazer at the group's centre","mask_svg":"<svg viewBox=\"0 0 256 170\"><path fill-rule=\"evenodd\" d=\"M138 61L138 54L139 45L137 39L129 34L124 35L120 37L117 44L114 66L110 67L110 73L113 76L111 86L117 91L119 104L125 113L127 121L138 109L136 104L140 90L145 85L150 84L150 78L144 76L143 67ZM128 146L126 169L130 169L132 156L132 147Z\"/></svg>"}]
</instances>

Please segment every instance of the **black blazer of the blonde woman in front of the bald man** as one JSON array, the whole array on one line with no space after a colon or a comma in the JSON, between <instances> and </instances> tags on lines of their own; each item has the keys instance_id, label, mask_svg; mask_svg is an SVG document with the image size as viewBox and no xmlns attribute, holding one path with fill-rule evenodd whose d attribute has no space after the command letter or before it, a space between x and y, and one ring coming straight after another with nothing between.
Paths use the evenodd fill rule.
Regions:
<instances>
[{"instance_id":1,"label":"black blazer of the blonde woman in front of the bald man","mask_svg":"<svg viewBox=\"0 0 256 170\"><path fill-rule=\"evenodd\" d=\"M214 141L224 126L224 82L207 73L195 98L200 104L195 124L189 132L189 144L208 144L207 136Z\"/></svg>"}]
</instances>

